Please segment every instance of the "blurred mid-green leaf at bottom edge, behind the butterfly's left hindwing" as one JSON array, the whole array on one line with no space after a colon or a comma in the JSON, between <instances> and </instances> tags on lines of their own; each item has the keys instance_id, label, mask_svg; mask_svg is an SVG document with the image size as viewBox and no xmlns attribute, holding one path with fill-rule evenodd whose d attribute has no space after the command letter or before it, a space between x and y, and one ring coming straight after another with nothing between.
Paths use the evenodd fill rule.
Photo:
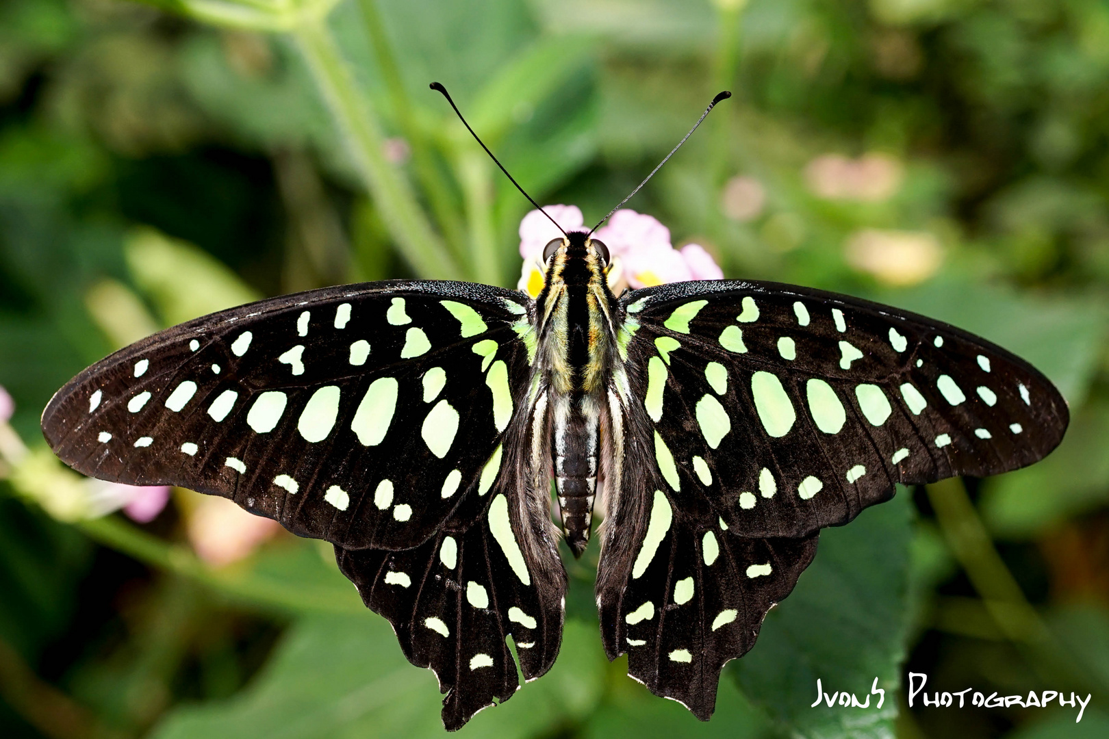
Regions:
<instances>
[{"instance_id":1,"label":"blurred mid-green leaf at bottom edge, behind the butterfly's left hindwing","mask_svg":"<svg viewBox=\"0 0 1109 739\"><path fill-rule=\"evenodd\" d=\"M592 625L568 620L554 668L459 736L549 735L581 720L601 692L604 657ZM156 739L408 739L444 736L441 696L411 666L388 623L373 614L313 616L285 635L254 685L222 704L179 708Z\"/></svg>"}]
</instances>

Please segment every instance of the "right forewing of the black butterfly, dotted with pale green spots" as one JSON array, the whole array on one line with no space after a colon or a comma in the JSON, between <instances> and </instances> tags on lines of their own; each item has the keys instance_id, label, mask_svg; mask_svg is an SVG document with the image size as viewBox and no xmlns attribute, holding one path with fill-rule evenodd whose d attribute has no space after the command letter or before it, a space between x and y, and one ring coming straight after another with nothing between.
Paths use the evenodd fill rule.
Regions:
<instances>
[{"instance_id":1,"label":"right forewing of the black butterfly, dotted with pale green spots","mask_svg":"<svg viewBox=\"0 0 1109 739\"><path fill-rule=\"evenodd\" d=\"M639 324L629 362L648 374L639 403L683 484L744 536L844 524L898 482L1031 464L1067 428L1066 402L1030 365L906 311L732 280L625 305Z\"/></svg>"}]
</instances>

